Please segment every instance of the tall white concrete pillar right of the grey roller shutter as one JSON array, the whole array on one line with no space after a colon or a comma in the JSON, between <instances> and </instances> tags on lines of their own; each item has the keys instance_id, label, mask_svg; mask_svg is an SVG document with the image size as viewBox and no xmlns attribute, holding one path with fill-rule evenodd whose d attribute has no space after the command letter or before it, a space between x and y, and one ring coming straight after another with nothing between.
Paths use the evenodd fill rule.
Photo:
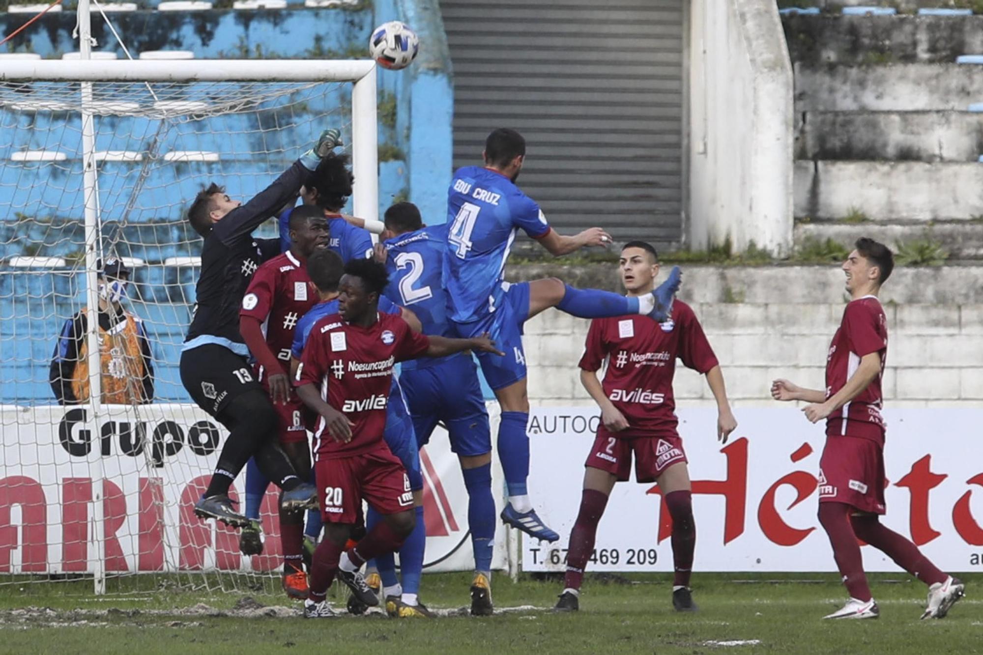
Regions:
<instances>
[{"instance_id":1,"label":"tall white concrete pillar right of the grey roller shutter","mask_svg":"<svg viewBox=\"0 0 983 655\"><path fill-rule=\"evenodd\" d=\"M692 0L691 248L792 243L792 69L775 0Z\"/></svg>"}]
</instances>

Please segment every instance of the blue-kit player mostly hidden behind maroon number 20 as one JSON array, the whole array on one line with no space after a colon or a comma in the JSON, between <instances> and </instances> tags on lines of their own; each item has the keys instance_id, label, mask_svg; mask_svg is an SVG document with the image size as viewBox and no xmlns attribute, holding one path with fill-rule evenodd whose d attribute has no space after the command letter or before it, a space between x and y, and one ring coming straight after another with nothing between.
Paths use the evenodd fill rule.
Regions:
<instances>
[{"instance_id":1,"label":"blue-kit player mostly hidden behind maroon number 20","mask_svg":"<svg viewBox=\"0 0 983 655\"><path fill-rule=\"evenodd\" d=\"M305 314L294 330L294 343L291 349L291 370L296 373L304 346L311 334L311 328L325 316L338 313L338 284L341 281L343 266L340 259L329 251L316 253L308 260L308 273L318 287L320 302ZM416 332L422 330L416 314L399 307L385 296L379 296L378 311L384 314L401 316L407 325ZM420 452L413 434L413 422L406 407L403 389L396 376L389 388L389 401L385 408L385 430L382 434L386 445L399 457L406 469L413 491L417 520L413 532L399 549L400 580L396 577L396 564L392 553L376 558L376 567L381 577L382 595L385 599L386 613L391 617L432 617L432 613L419 600L420 577L424 567L424 547L427 540L427 526L424 521L423 473L420 470ZM370 506L366 515L366 528L372 530L380 520L380 515ZM371 576L369 576L371 577ZM371 587L372 580L367 578ZM349 611L362 614L368 609L354 597L349 598Z\"/></svg>"}]
</instances>

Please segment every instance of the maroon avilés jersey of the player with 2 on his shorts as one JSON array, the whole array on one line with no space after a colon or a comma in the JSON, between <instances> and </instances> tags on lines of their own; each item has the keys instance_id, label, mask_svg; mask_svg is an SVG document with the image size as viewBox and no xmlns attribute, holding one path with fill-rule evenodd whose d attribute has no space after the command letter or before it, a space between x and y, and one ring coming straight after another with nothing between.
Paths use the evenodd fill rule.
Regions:
<instances>
[{"instance_id":1,"label":"maroon avil\u00e9s jersey of the player with 2 on his shorts","mask_svg":"<svg viewBox=\"0 0 983 655\"><path fill-rule=\"evenodd\" d=\"M678 420L672 395L676 358L687 367L707 373L717 366L710 342L689 305L674 301L672 316L656 323L644 316L594 319L587 332L580 368L598 371L607 360L603 387L628 428L599 437L673 436Z\"/></svg>"}]
</instances>

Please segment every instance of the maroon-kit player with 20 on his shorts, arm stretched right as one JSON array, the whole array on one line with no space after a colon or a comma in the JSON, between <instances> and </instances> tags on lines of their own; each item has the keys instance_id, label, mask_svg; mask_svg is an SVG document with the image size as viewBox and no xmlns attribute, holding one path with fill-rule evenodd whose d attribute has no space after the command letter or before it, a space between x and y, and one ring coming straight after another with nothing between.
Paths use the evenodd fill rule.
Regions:
<instances>
[{"instance_id":1,"label":"maroon-kit player with 20 on his shorts, arm stretched right","mask_svg":"<svg viewBox=\"0 0 983 655\"><path fill-rule=\"evenodd\" d=\"M314 555L308 618L333 616L325 600L337 576L359 601L378 605L359 567L396 551L412 531L413 492L399 458L382 439L393 365L417 357L445 357L473 349L502 353L488 334L469 339L413 332L395 315L378 312L388 282L375 260L352 260L338 290L338 314L311 329L295 385L304 403L318 412L315 475L324 539ZM344 550L365 499L383 520L354 547Z\"/></svg>"}]
</instances>

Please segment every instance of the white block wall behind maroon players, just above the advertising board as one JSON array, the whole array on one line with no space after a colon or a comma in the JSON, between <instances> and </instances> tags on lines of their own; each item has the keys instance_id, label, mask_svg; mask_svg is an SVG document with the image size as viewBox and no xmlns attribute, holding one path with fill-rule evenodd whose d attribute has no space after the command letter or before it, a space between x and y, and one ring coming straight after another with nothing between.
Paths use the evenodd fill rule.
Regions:
<instances>
[{"instance_id":1,"label":"white block wall behind maroon players, just above the advertising board","mask_svg":"<svg viewBox=\"0 0 983 655\"><path fill-rule=\"evenodd\" d=\"M690 303L717 353L736 407L779 406L775 378L825 387L826 353L843 303ZM896 305L886 301L888 407L983 407L983 305ZM577 362L589 323L548 310L526 324L529 398L534 405L593 404ZM706 379L677 363L677 406L714 406Z\"/></svg>"}]
</instances>

